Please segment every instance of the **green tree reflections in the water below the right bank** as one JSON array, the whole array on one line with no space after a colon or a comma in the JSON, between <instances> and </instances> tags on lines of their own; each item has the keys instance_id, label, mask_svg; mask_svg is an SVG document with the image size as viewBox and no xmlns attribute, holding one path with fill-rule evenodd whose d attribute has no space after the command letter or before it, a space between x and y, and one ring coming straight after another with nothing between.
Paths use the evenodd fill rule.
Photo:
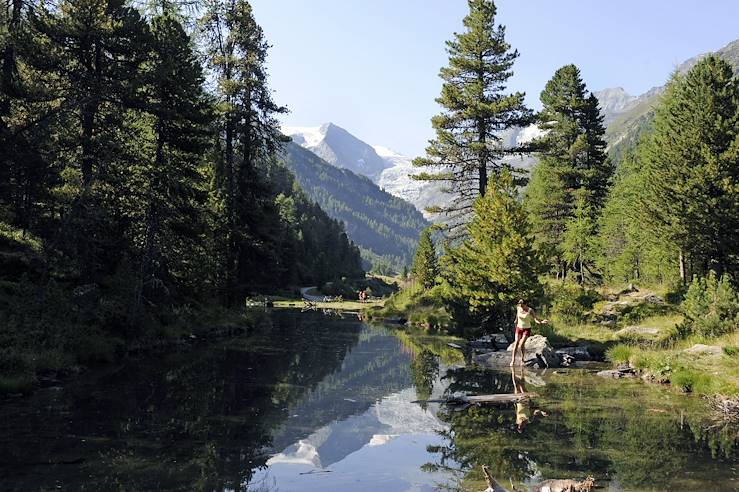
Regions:
<instances>
[{"instance_id":1,"label":"green tree reflections in the water below the right bank","mask_svg":"<svg viewBox=\"0 0 739 492\"><path fill-rule=\"evenodd\" d=\"M510 375L457 369L448 376L449 392L510 392ZM431 449L437 461L426 468L459 466L473 481L482 480L482 464L503 480L521 482L534 475L592 474L600 480L613 478L627 489L655 490L671 489L688 477L693 483L721 483L730 477L729 467L715 459L736 460L736 427L711 427L705 410L692 408L690 400L671 395L668 403L665 394L652 388L594 383L592 376L574 374L552 378L536 392L550 416L520 434L511 406L440 413L449 424L443 433L447 444ZM666 404L669 413L659 410ZM679 405L686 406L683 415L692 420L681 419ZM658 410L650 411L651 406Z\"/></svg>"}]
</instances>

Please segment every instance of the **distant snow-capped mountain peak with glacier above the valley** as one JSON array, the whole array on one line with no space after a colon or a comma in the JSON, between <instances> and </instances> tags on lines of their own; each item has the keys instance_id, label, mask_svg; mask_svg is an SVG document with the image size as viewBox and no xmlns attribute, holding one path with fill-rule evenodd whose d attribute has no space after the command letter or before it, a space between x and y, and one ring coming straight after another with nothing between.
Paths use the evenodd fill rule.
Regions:
<instances>
[{"instance_id":1,"label":"distant snow-capped mountain peak with glacier above the valley","mask_svg":"<svg viewBox=\"0 0 739 492\"><path fill-rule=\"evenodd\" d=\"M374 182L383 169L391 165L378 156L372 146L333 123L316 127L284 127L282 132L329 164L362 174Z\"/></svg>"}]
</instances>

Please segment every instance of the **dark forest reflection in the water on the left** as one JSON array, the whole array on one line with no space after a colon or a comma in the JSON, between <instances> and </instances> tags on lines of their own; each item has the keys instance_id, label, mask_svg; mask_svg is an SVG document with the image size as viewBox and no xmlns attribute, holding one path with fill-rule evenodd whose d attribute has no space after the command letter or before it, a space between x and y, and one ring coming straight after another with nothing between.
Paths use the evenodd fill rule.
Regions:
<instances>
[{"instance_id":1,"label":"dark forest reflection in the water on the left","mask_svg":"<svg viewBox=\"0 0 739 492\"><path fill-rule=\"evenodd\" d=\"M84 457L26 468L35 473L17 488L243 490L265 466L274 429L341 367L362 326L296 315L276 313L248 339L132 362L22 411L0 409L15 429L3 435L19 439L0 446L0 475Z\"/></svg>"}]
</instances>

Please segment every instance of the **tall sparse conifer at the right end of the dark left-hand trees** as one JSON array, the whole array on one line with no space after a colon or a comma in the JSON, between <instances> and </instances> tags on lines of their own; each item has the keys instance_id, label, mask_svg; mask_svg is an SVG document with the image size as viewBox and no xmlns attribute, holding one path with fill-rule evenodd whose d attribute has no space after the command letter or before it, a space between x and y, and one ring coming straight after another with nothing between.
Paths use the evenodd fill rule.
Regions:
<instances>
[{"instance_id":1,"label":"tall sparse conifer at the right end of the dark left-hand trees","mask_svg":"<svg viewBox=\"0 0 739 492\"><path fill-rule=\"evenodd\" d=\"M225 237L224 289L228 296L269 278L259 266L274 264L278 210L266 163L286 139L275 115L286 108L267 85L268 44L245 0L212 0L201 19L207 60L217 83L220 107L215 195L222 202Z\"/></svg>"}]
</instances>

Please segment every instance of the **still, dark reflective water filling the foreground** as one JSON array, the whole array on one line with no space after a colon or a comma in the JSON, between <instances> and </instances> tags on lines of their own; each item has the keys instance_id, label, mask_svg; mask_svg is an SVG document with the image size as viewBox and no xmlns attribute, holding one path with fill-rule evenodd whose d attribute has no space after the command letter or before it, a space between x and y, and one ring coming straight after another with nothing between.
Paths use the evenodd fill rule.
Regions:
<instances>
[{"instance_id":1,"label":"still, dark reflective water filling the foreground","mask_svg":"<svg viewBox=\"0 0 739 492\"><path fill-rule=\"evenodd\" d=\"M600 490L739 490L739 429L699 399L583 369L514 378L422 338L275 311L243 339L0 402L0 491L482 490L482 464L522 490L587 475ZM514 384L539 397L411 403Z\"/></svg>"}]
</instances>

